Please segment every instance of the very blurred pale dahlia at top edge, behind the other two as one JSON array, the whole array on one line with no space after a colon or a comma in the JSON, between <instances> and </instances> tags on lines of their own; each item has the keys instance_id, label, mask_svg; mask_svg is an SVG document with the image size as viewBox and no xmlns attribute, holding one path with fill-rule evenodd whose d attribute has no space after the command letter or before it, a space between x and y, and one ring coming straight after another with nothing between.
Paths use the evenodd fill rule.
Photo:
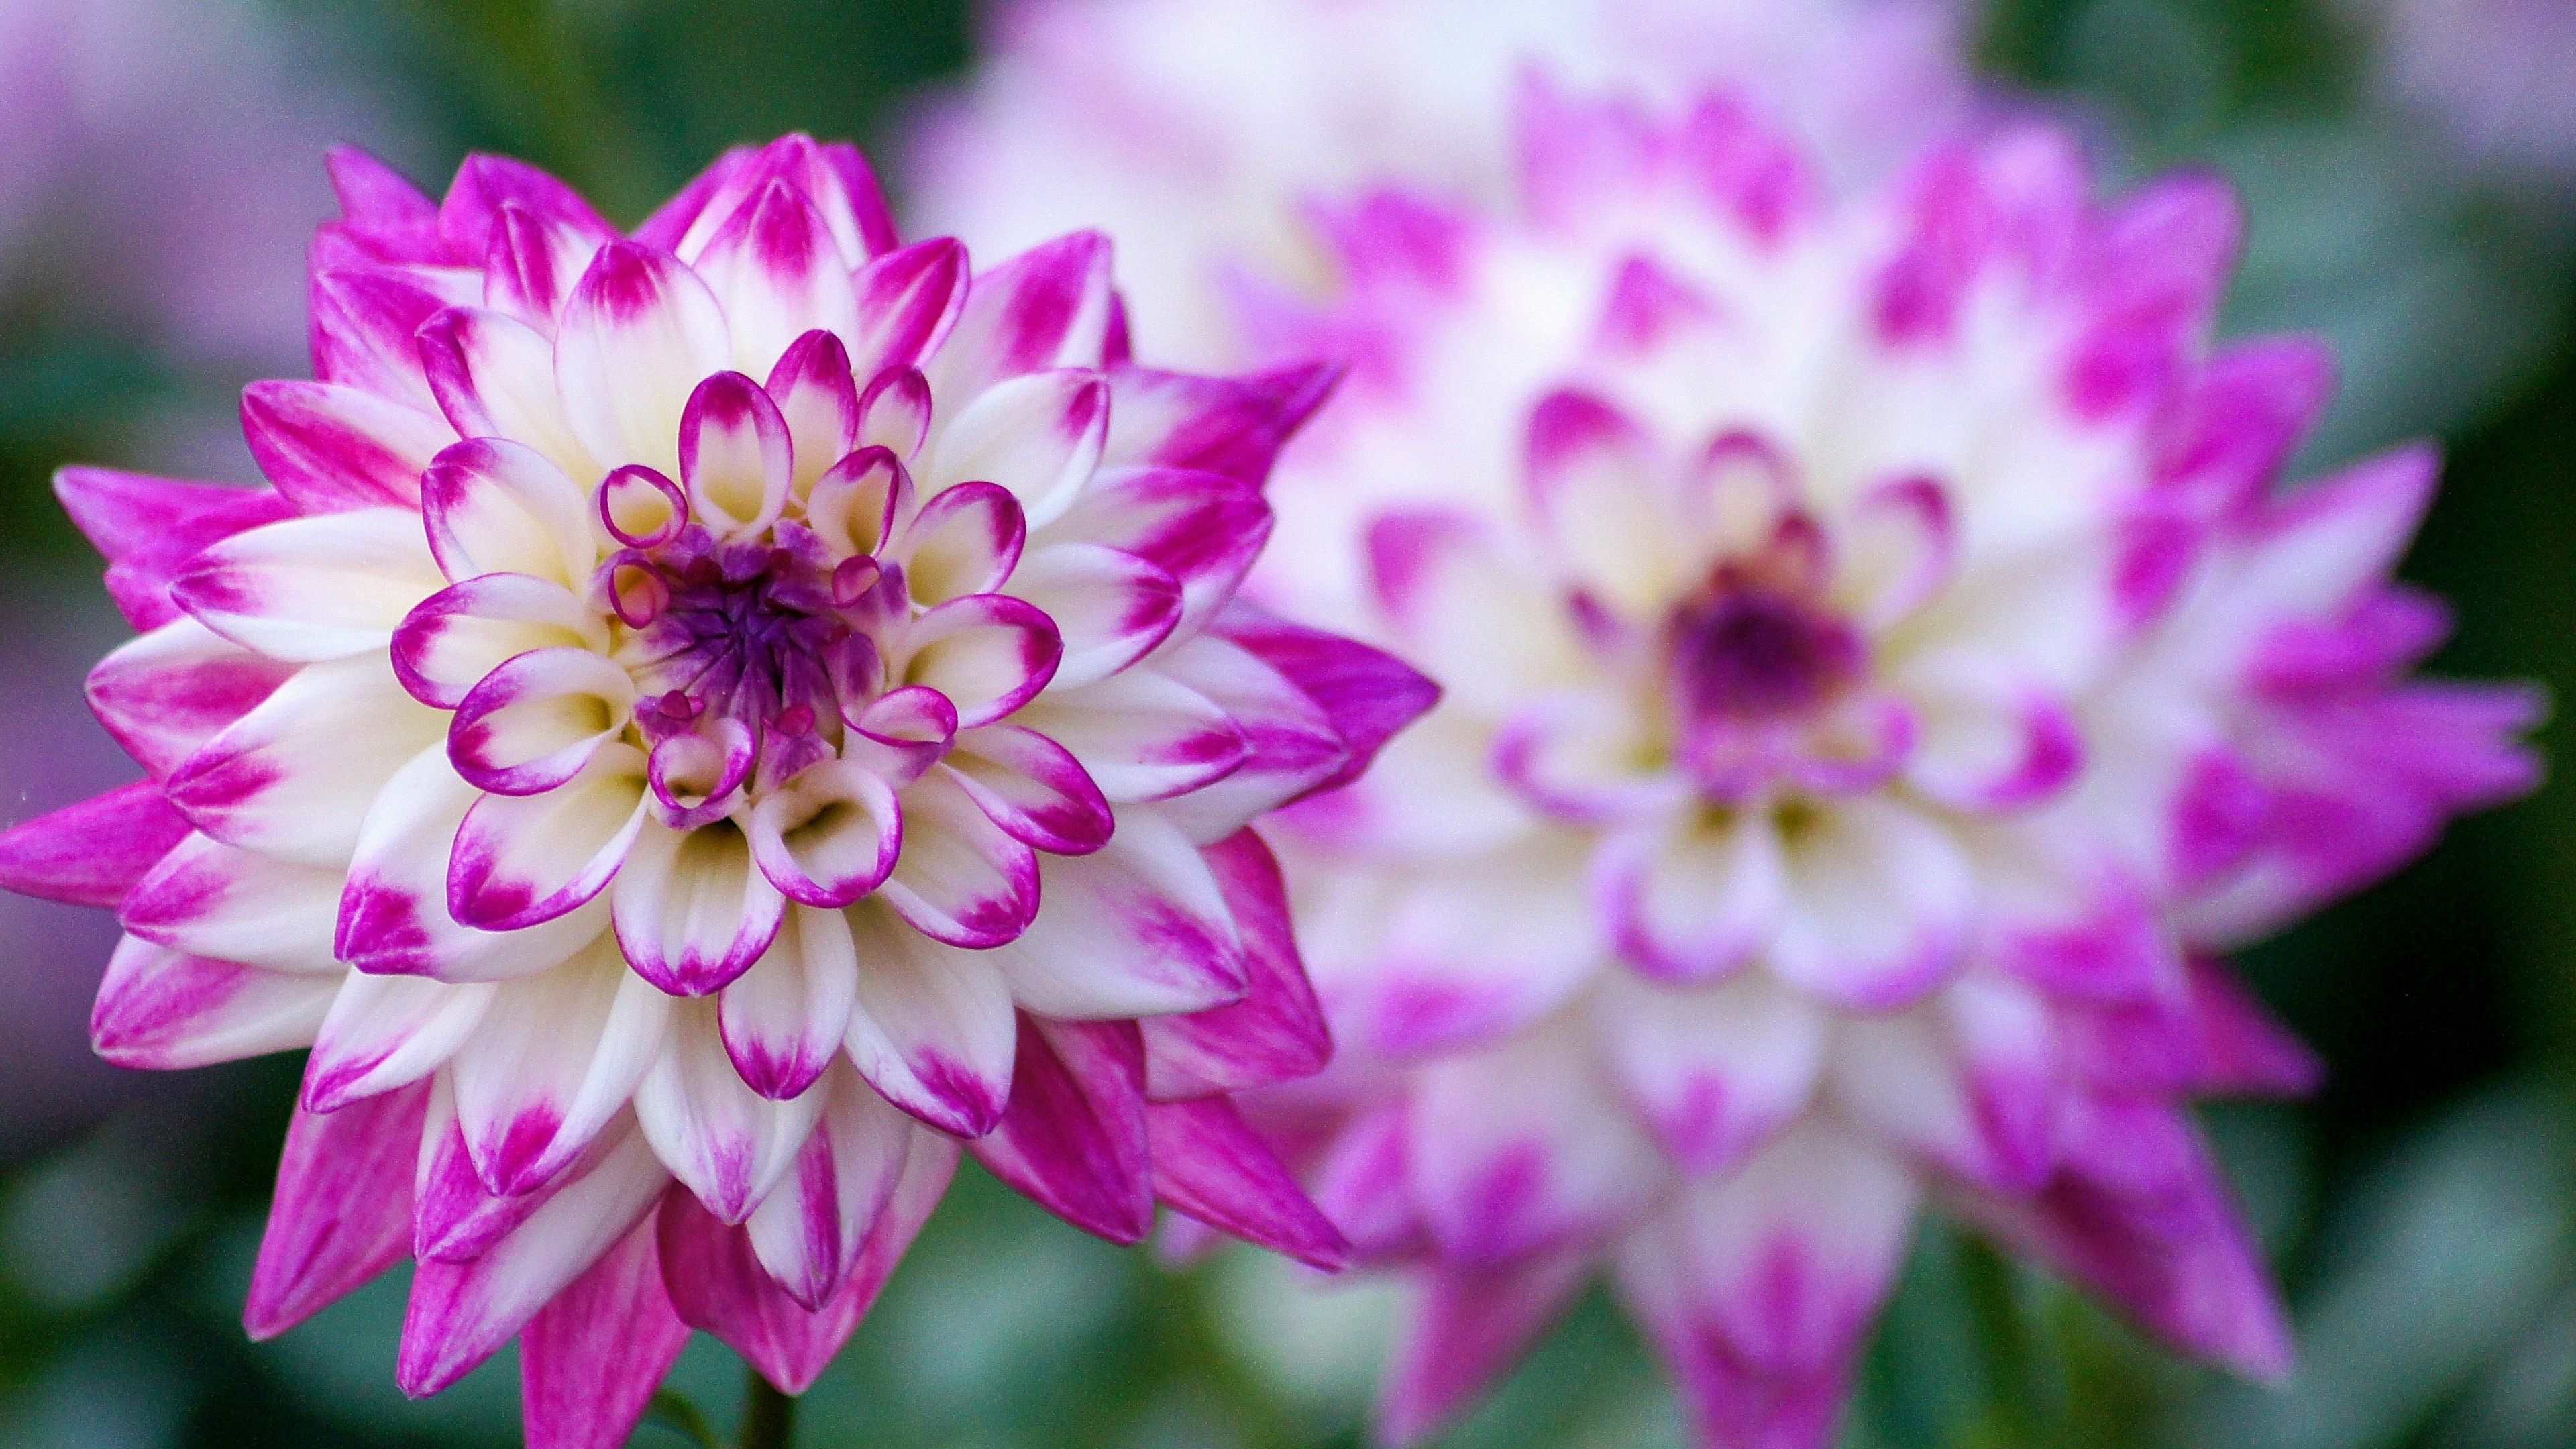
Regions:
<instances>
[{"instance_id":1,"label":"very blurred pale dahlia at top edge, behind the other two","mask_svg":"<svg viewBox=\"0 0 2576 1449\"><path fill-rule=\"evenodd\" d=\"M1965 106L1953 0L1010 0L909 147L917 217L979 248L1108 224L1139 335L1234 361L1221 271L1314 278L1311 196L1386 178L1502 199L1512 77L1752 85L1880 165Z\"/></svg>"}]
</instances>

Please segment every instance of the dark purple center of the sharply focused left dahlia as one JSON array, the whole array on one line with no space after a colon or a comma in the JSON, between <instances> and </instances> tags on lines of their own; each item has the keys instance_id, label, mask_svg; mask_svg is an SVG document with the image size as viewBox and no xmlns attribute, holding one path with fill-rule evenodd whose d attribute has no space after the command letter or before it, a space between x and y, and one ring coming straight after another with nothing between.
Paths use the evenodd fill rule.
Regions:
<instances>
[{"instance_id":1,"label":"dark purple center of the sharply focused left dahlia","mask_svg":"<svg viewBox=\"0 0 2576 1449\"><path fill-rule=\"evenodd\" d=\"M817 549L788 544L714 544L698 529L623 554L618 611L634 637L621 652L647 694L647 735L690 730L708 714L739 719L752 737L837 724L845 686L873 660L868 601L837 606L817 559Z\"/></svg>"}]
</instances>

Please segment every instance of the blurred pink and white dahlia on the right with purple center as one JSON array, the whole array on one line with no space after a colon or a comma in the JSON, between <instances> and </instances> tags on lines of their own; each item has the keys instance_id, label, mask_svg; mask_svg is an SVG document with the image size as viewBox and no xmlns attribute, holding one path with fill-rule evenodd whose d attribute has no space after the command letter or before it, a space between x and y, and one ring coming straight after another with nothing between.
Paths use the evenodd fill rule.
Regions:
<instances>
[{"instance_id":1,"label":"blurred pink and white dahlia on the right with purple center","mask_svg":"<svg viewBox=\"0 0 2576 1449\"><path fill-rule=\"evenodd\" d=\"M1445 688L1285 817L1342 1057L1265 1116L1422 1289L1388 1439L1607 1269L1705 1444L1829 1444L1924 1204L2287 1372L2187 1104L2318 1067L2210 951L2535 768L2527 694L2409 678L2432 454L2277 492L2329 366L2210 345L2208 178L1520 119L1515 206L1342 206L1257 317L1355 371L1255 588Z\"/></svg>"}]
</instances>

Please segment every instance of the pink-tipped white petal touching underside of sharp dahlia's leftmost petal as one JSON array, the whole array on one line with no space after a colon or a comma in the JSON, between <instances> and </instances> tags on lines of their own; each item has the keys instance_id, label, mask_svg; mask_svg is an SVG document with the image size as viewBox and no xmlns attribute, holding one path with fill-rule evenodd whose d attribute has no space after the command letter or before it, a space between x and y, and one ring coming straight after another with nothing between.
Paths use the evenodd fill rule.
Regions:
<instances>
[{"instance_id":1,"label":"pink-tipped white petal touching underside of sharp dahlia's leftmost petal","mask_svg":"<svg viewBox=\"0 0 2576 1449\"><path fill-rule=\"evenodd\" d=\"M118 915L126 931L173 951L337 977L337 871L188 835L126 892Z\"/></svg>"}]
</instances>

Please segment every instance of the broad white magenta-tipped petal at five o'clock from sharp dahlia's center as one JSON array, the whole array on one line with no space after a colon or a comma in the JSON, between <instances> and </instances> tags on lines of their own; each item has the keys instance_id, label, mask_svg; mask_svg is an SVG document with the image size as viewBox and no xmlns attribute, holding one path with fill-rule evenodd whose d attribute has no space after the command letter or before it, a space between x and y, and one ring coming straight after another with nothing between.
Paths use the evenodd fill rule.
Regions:
<instances>
[{"instance_id":1,"label":"broad white magenta-tipped petal at five o'clock from sharp dahlia's center","mask_svg":"<svg viewBox=\"0 0 2576 1449\"><path fill-rule=\"evenodd\" d=\"M850 1060L894 1106L956 1137L981 1137L1010 1104L1018 1024L987 951L927 941L884 902L848 913L858 949Z\"/></svg>"}]
</instances>

